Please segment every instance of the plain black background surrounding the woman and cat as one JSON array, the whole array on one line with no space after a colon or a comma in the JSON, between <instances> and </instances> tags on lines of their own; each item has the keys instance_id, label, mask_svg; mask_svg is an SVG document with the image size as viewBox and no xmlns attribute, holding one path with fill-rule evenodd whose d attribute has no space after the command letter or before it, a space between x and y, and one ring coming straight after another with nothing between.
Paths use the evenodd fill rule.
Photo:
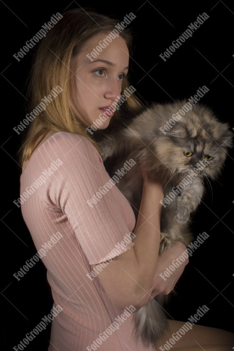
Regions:
<instances>
[{"instance_id":1,"label":"plain black background surrounding the woman and cat","mask_svg":"<svg viewBox=\"0 0 234 351\"><path fill-rule=\"evenodd\" d=\"M145 101L170 102L189 98L206 85L210 91L202 98L221 121L234 128L234 5L231 1L8 1L1 6L1 162L2 194L2 306L5 331L4 350L12 348L27 332L50 312L52 300L41 262L20 280L13 274L30 259L36 249L22 220L20 209L13 204L19 197L20 169L16 153L20 137L13 130L25 117L26 79L32 52L18 62L13 55L31 39L53 14L66 8L92 7L122 20L133 12L131 22L136 49L131 60L130 80ZM210 18L164 62L159 55L206 12ZM35 46L35 49L37 46ZM222 176L207 188L203 203L193 219L195 236L210 236L190 258L177 283L177 296L168 307L170 317L186 321L199 306L210 309L199 324L234 332L234 152L227 157ZM4 255L5 254L5 255ZM231 318L232 324L228 322ZM47 350L50 326L37 336L27 350Z\"/></svg>"}]
</instances>

